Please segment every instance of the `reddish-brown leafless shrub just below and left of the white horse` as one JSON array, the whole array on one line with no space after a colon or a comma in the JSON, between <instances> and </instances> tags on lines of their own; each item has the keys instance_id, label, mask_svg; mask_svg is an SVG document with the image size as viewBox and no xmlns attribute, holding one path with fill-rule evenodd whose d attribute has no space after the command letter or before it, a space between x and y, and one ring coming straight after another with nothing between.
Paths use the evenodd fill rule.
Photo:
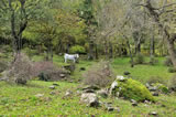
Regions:
<instances>
[{"instance_id":1,"label":"reddish-brown leafless shrub just below and left of the white horse","mask_svg":"<svg viewBox=\"0 0 176 117\"><path fill-rule=\"evenodd\" d=\"M35 62L33 76L38 76L41 81L58 81L68 76L64 68L55 66L52 62Z\"/></svg>"}]
</instances>

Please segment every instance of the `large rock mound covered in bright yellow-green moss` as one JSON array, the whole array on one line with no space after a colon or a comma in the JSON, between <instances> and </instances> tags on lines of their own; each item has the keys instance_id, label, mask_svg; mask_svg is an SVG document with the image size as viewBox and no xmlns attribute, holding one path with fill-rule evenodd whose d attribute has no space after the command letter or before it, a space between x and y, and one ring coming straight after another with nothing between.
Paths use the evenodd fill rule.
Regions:
<instances>
[{"instance_id":1,"label":"large rock mound covered in bright yellow-green moss","mask_svg":"<svg viewBox=\"0 0 176 117\"><path fill-rule=\"evenodd\" d=\"M118 86L113 91L113 94L119 94L119 97L124 97L125 99L134 99L136 102L155 100L150 91L138 81L129 78L123 82L117 82Z\"/></svg>"}]
</instances>

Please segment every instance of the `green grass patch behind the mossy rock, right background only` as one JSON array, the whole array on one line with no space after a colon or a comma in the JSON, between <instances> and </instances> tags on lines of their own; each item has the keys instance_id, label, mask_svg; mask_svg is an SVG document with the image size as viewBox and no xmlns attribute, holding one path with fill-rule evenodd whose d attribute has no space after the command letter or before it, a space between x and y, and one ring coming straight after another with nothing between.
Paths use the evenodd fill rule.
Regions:
<instances>
[{"instance_id":1,"label":"green grass patch behind the mossy rock, right background only","mask_svg":"<svg viewBox=\"0 0 176 117\"><path fill-rule=\"evenodd\" d=\"M158 57L158 63L156 65L135 65L131 67L129 62L130 59L122 57L116 59L112 62L112 67L116 74L123 75L125 71L131 73L131 77L138 79L142 83L146 83L146 81L151 76L160 76L164 77L166 81L169 79L174 74L168 73L168 67L163 65L164 57Z\"/></svg>"}]
</instances>

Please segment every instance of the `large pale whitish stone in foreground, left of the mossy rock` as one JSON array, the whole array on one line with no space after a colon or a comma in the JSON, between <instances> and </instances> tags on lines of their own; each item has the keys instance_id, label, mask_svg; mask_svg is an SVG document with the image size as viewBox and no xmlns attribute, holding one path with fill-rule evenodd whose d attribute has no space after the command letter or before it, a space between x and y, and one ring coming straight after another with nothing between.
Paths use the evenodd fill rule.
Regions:
<instances>
[{"instance_id":1,"label":"large pale whitish stone in foreground, left of the mossy rock","mask_svg":"<svg viewBox=\"0 0 176 117\"><path fill-rule=\"evenodd\" d=\"M94 93L81 94L80 102L86 103L90 107L98 107L100 105L97 95Z\"/></svg>"}]
</instances>

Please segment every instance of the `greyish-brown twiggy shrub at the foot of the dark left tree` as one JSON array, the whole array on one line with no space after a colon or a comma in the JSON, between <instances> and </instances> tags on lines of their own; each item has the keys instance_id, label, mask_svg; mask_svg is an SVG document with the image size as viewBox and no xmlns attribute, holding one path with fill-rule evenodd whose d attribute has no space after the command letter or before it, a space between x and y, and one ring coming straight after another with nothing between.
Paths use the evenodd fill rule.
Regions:
<instances>
[{"instance_id":1,"label":"greyish-brown twiggy shrub at the foot of the dark left tree","mask_svg":"<svg viewBox=\"0 0 176 117\"><path fill-rule=\"evenodd\" d=\"M21 53L18 55L15 62L10 65L7 79L16 84L26 84L32 78L32 62L25 54Z\"/></svg>"}]
</instances>

